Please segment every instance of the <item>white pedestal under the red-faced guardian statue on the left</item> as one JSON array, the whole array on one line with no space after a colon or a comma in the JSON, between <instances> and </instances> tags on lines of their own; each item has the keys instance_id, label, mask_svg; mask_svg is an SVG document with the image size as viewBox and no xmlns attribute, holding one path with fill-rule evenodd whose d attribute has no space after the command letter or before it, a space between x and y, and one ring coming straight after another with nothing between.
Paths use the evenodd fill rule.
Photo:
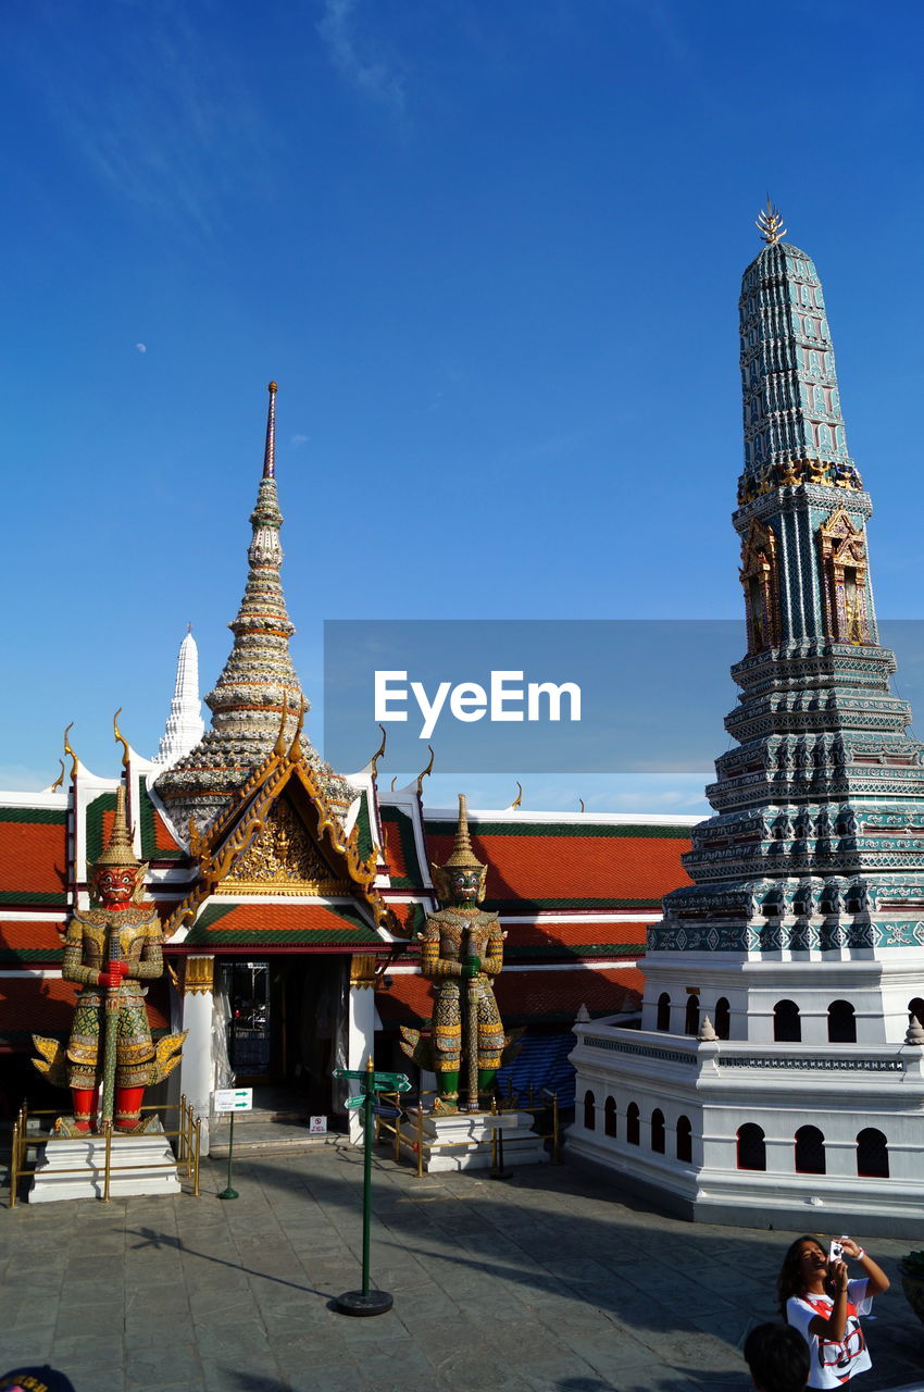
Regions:
<instances>
[{"instance_id":1,"label":"white pedestal under the red-faced guardian statue on the left","mask_svg":"<svg viewBox=\"0 0 924 1392\"><path fill-rule=\"evenodd\" d=\"M103 1136L53 1137L42 1143L28 1200L46 1204L64 1199L102 1199L104 1186ZM178 1193L177 1158L166 1136L113 1136L110 1199Z\"/></svg>"}]
</instances>

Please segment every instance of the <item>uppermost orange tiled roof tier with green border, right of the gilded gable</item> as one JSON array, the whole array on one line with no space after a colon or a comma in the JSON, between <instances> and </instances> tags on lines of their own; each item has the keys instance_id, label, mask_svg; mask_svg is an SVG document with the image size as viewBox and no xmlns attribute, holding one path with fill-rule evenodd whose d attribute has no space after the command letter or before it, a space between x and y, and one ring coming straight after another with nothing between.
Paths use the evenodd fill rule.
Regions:
<instances>
[{"instance_id":1,"label":"uppermost orange tiled roof tier with green border, right of the gilded gable","mask_svg":"<svg viewBox=\"0 0 924 1392\"><path fill-rule=\"evenodd\" d=\"M427 852L443 864L454 825L429 821ZM689 884L680 856L690 849L686 827L470 821L472 846L487 862L486 908L657 906ZM522 912L522 910L520 910Z\"/></svg>"}]
</instances>

